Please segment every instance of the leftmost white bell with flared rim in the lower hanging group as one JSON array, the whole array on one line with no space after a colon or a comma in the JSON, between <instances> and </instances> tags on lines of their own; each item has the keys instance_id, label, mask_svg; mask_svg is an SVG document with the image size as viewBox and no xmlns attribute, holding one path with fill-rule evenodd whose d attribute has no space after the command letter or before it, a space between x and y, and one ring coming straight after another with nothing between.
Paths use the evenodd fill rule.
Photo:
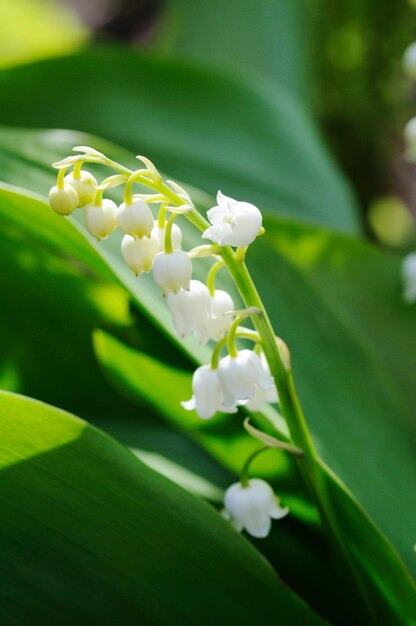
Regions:
<instances>
[{"instance_id":1,"label":"leftmost white bell with flared rim in the lower hanging group","mask_svg":"<svg viewBox=\"0 0 416 626\"><path fill-rule=\"evenodd\" d=\"M195 410L202 419L209 419L217 411L222 413L236 413L235 403L224 405L222 387L218 379L218 372L210 365L202 365L195 370L192 377L193 396L186 402L181 402L187 411Z\"/></svg>"}]
</instances>

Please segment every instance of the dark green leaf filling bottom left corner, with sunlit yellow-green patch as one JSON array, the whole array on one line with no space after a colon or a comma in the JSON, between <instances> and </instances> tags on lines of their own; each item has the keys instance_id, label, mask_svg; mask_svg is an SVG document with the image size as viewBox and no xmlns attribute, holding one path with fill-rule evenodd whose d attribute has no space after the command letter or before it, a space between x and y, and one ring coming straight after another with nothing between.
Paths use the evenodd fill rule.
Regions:
<instances>
[{"instance_id":1,"label":"dark green leaf filling bottom left corner, with sunlit yellow-green patch","mask_svg":"<svg viewBox=\"0 0 416 626\"><path fill-rule=\"evenodd\" d=\"M213 509L120 444L0 392L2 623L323 624Z\"/></svg>"}]
</instances>

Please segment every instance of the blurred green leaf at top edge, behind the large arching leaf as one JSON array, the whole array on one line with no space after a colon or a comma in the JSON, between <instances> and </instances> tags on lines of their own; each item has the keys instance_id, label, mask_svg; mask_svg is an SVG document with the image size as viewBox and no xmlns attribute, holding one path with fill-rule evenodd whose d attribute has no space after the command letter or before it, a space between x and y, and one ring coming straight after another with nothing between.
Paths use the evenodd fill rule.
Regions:
<instances>
[{"instance_id":1,"label":"blurred green leaf at top edge, behind the large arching leaf","mask_svg":"<svg viewBox=\"0 0 416 626\"><path fill-rule=\"evenodd\" d=\"M256 72L309 95L312 7L305 0L171 0L152 48ZM219 19L221 15L221 19ZM236 20L238 28L236 28Z\"/></svg>"}]
</instances>

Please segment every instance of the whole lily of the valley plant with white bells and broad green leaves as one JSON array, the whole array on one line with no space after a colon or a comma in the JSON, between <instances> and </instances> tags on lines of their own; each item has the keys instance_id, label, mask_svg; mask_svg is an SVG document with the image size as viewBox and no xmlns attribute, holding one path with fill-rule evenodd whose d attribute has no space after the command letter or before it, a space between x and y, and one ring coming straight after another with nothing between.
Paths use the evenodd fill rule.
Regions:
<instances>
[{"instance_id":1,"label":"whole lily of the valley plant with white bells and broad green leaves","mask_svg":"<svg viewBox=\"0 0 416 626\"><path fill-rule=\"evenodd\" d=\"M310 113L103 47L0 120L0 624L416 623L415 253Z\"/></svg>"}]
</instances>

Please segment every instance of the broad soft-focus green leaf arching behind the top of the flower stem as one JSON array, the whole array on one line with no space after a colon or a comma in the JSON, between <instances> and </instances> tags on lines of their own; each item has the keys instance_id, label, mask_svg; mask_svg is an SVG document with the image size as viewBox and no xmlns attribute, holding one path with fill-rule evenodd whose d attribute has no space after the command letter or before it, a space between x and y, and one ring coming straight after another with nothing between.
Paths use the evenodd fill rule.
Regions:
<instances>
[{"instance_id":1,"label":"broad soft-focus green leaf arching behind the top of the flower stem","mask_svg":"<svg viewBox=\"0 0 416 626\"><path fill-rule=\"evenodd\" d=\"M253 78L101 48L2 71L0 123L95 133L205 191L358 230L350 190L302 106Z\"/></svg>"}]
</instances>

